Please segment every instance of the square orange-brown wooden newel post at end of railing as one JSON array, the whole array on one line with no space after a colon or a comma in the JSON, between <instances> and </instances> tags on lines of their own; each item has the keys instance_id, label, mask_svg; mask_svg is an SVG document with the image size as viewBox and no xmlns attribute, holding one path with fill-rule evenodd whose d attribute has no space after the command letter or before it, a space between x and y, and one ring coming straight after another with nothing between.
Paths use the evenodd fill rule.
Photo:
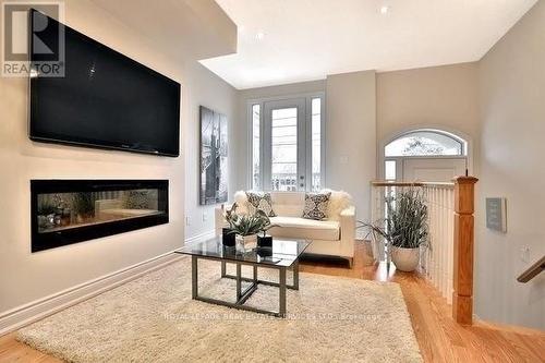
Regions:
<instances>
[{"instance_id":1,"label":"square orange-brown wooden newel post at end of railing","mask_svg":"<svg viewBox=\"0 0 545 363\"><path fill-rule=\"evenodd\" d=\"M459 324L473 322L474 192L479 179L455 179L455 274L452 317Z\"/></svg>"}]
</instances>

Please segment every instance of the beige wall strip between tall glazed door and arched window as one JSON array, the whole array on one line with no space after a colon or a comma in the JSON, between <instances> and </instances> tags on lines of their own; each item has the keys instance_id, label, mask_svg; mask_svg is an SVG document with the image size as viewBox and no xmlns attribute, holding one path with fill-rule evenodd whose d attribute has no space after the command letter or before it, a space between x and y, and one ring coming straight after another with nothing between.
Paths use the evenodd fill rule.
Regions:
<instances>
[{"instance_id":1,"label":"beige wall strip between tall glazed door and arched window","mask_svg":"<svg viewBox=\"0 0 545 363\"><path fill-rule=\"evenodd\" d=\"M327 76L326 184L352 195L356 217L371 218L376 178L375 72Z\"/></svg>"}]
</instances>

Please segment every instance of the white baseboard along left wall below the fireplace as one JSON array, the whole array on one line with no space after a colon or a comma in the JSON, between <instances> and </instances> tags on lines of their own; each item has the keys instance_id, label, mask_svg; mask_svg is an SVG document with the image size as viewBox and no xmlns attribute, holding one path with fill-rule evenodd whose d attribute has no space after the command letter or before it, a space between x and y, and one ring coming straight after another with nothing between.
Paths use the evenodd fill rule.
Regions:
<instances>
[{"instance_id":1,"label":"white baseboard along left wall below the fireplace","mask_svg":"<svg viewBox=\"0 0 545 363\"><path fill-rule=\"evenodd\" d=\"M81 283L52 295L33 301L0 313L0 336L22 328L71 305L96 297L107 290L138 278L152 270L165 267L181 256L172 251L142 263L129 266L97 279Z\"/></svg>"}]
</instances>

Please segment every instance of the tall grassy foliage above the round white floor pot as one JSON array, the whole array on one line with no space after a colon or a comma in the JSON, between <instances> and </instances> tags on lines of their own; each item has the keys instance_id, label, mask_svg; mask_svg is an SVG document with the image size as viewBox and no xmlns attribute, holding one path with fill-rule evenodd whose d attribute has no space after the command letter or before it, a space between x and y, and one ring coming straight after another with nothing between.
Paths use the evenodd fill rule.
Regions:
<instances>
[{"instance_id":1,"label":"tall grassy foliage above the round white floor pot","mask_svg":"<svg viewBox=\"0 0 545 363\"><path fill-rule=\"evenodd\" d=\"M374 223L361 222L374 239L384 238L395 247L428 246L427 205L422 191L409 189L385 197L386 218Z\"/></svg>"}]
</instances>

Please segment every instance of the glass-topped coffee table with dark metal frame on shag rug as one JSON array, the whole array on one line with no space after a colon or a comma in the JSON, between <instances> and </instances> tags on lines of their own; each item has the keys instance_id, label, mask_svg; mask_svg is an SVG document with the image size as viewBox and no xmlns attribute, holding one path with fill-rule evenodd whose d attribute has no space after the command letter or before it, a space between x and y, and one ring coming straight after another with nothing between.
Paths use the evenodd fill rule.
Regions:
<instances>
[{"instance_id":1,"label":"glass-topped coffee table with dark metal frame on shag rug","mask_svg":"<svg viewBox=\"0 0 545 363\"><path fill-rule=\"evenodd\" d=\"M223 246L221 237L216 237L203 242L192 243L175 253L191 256L191 285L192 298L213 304L286 317L286 289L299 290L299 257L311 243L305 240L295 239L272 239L271 247L256 247L252 251L240 251L237 247ZM198 294L198 259L213 259L221 263L221 278L237 280L237 300L234 302L213 298L205 298ZM227 264L234 264L235 275L227 274ZM253 277L242 276L242 265L253 267ZM257 267L277 269L279 274L278 282L261 280L257 277ZM293 271L293 283L286 283L286 271ZM250 286L242 289L242 282L250 282ZM259 285L274 286L279 289L279 310L268 311L245 305L247 299L257 290Z\"/></svg>"}]
</instances>

